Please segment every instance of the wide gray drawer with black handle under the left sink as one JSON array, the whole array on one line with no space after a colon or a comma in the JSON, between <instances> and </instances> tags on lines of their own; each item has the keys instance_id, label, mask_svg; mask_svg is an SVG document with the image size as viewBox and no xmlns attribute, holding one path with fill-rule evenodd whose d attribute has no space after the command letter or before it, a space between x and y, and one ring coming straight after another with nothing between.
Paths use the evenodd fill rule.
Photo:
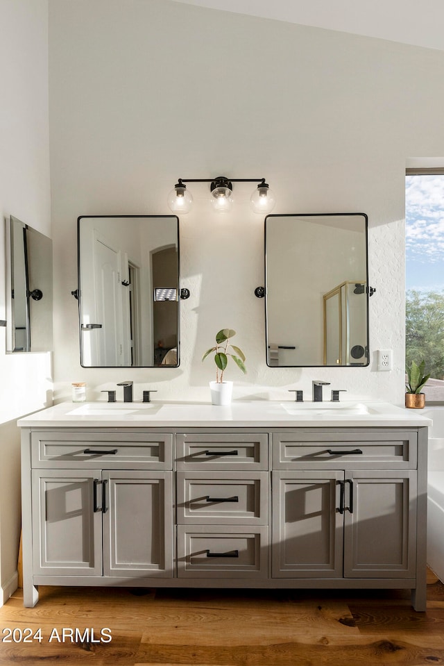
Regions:
<instances>
[{"instance_id":1,"label":"wide gray drawer with black handle under the left sink","mask_svg":"<svg viewBox=\"0 0 444 666\"><path fill-rule=\"evenodd\" d=\"M33 432L31 456L33 467L172 469L173 435Z\"/></svg>"}]
</instances>

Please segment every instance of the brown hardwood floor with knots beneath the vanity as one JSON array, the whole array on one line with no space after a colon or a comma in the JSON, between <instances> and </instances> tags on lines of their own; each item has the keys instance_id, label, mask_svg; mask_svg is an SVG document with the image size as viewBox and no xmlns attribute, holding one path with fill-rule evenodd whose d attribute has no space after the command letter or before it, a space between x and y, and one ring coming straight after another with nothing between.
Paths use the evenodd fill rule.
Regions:
<instances>
[{"instance_id":1,"label":"brown hardwood floor with knots beneath the vanity","mask_svg":"<svg viewBox=\"0 0 444 666\"><path fill-rule=\"evenodd\" d=\"M35 608L17 590L0 608L0 664L444 665L444 585L428 583L427 613L403 590L45 587Z\"/></svg>"}]
</instances>

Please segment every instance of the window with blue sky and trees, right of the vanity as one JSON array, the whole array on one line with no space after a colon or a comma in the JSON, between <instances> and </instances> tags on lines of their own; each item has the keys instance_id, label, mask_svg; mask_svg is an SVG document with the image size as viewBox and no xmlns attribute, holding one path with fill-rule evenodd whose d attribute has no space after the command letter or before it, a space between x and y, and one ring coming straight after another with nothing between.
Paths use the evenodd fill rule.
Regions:
<instances>
[{"instance_id":1,"label":"window with blue sky and trees, right of the vanity","mask_svg":"<svg viewBox=\"0 0 444 666\"><path fill-rule=\"evenodd\" d=\"M444 169L407 169L406 363L425 360L427 402L444 402Z\"/></svg>"}]
</instances>

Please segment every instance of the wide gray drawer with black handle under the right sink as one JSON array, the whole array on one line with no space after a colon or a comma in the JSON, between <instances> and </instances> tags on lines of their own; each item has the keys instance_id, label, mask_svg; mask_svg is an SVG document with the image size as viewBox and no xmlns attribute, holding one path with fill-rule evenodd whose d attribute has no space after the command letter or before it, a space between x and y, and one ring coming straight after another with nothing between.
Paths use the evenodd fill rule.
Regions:
<instances>
[{"instance_id":1,"label":"wide gray drawer with black handle under the right sink","mask_svg":"<svg viewBox=\"0 0 444 666\"><path fill-rule=\"evenodd\" d=\"M273 469L416 469L416 432L382 430L273 433Z\"/></svg>"}]
</instances>

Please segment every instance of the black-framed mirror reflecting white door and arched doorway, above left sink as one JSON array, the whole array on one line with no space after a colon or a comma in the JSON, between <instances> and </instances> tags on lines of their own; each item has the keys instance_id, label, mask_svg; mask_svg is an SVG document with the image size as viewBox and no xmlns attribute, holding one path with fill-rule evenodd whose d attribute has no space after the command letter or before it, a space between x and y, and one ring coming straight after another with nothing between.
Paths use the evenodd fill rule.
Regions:
<instances>
[{"instance_id":1,"label":"black-framed mirror reflecting white door and arched doorway, above left sink","mask_svg":"<svg viewBox=\"0 0 444 666\"><path fill-rule=\"evenodd\" d=\"M83 367L179 365L179 219L78 218Z\"/></svg>"}]
</instances>

